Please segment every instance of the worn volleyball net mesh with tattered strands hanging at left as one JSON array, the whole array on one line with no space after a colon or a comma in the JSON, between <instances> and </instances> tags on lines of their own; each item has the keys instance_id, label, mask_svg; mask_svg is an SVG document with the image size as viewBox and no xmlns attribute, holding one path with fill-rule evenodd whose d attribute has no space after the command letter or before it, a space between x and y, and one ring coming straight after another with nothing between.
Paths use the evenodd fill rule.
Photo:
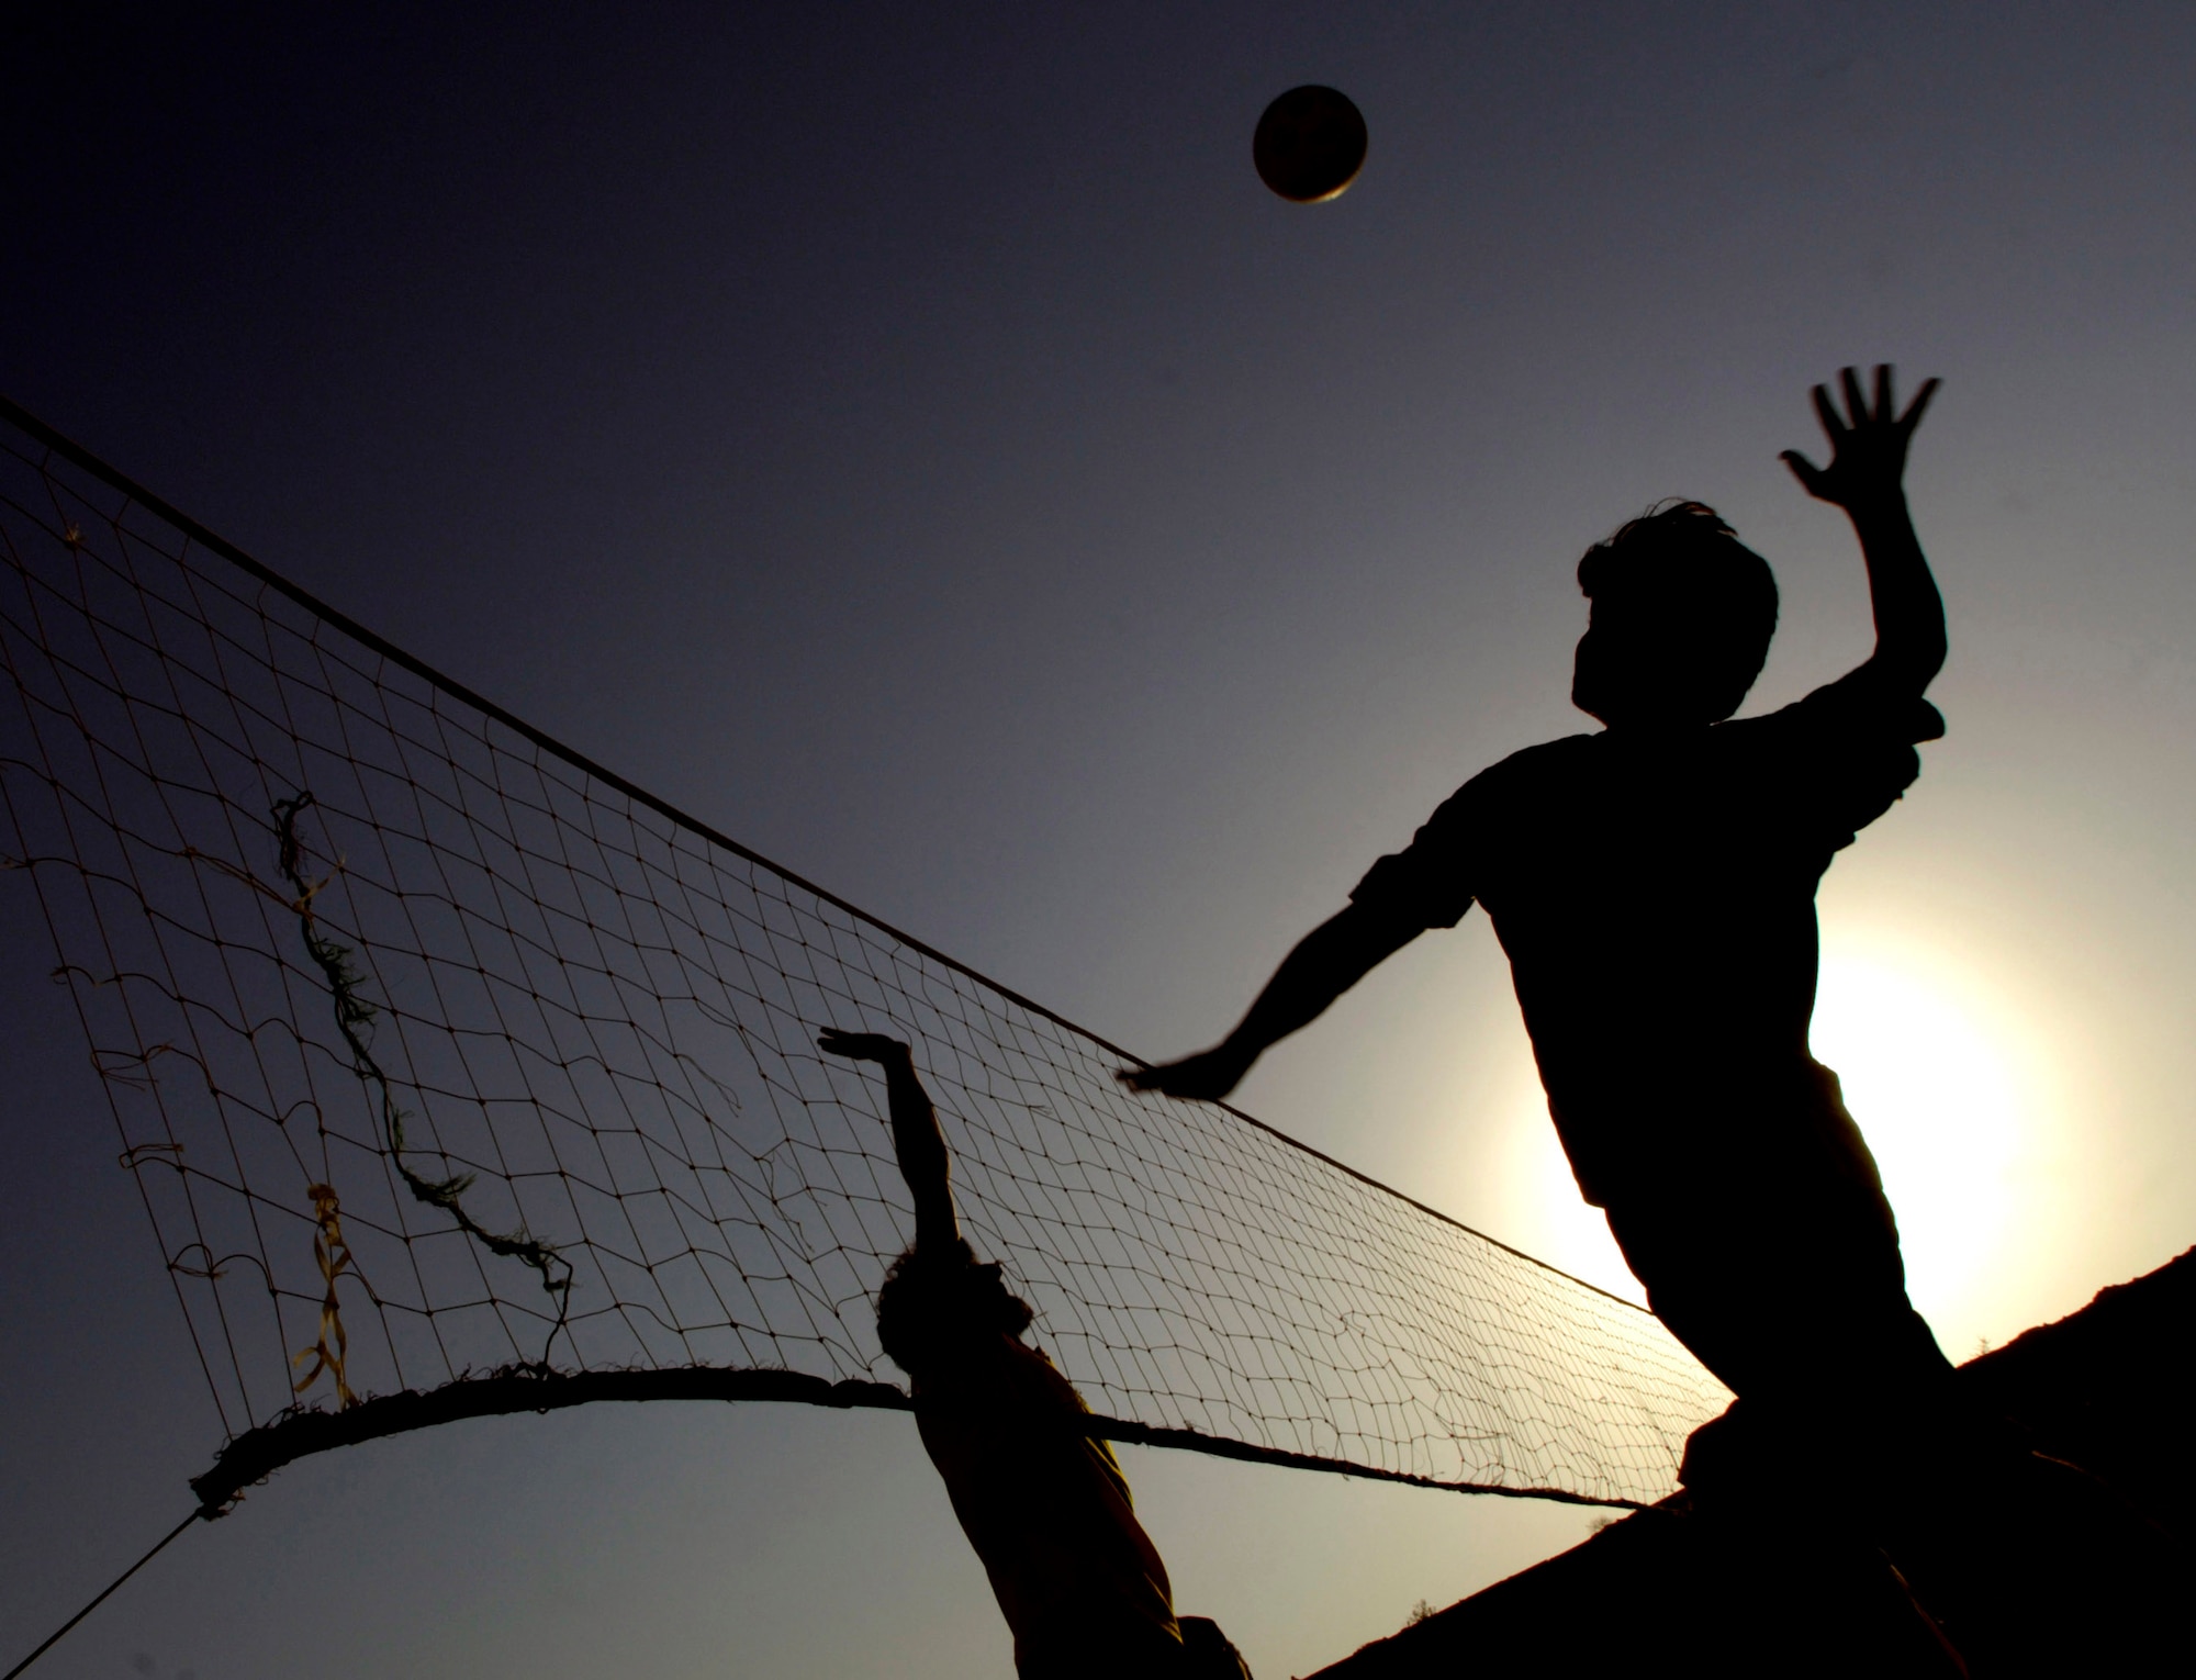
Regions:
<instances>
[{"instance_id":1,"label":"worn volleyball net mesh with tattered strands hanging at left","mask_svg":"<svg viewBox=\"0 0 2196 1680\"><path fill-rule=\"evenodd\" d=\"M1636 1307L679 817L0 426L0 843L222 1425L490 1370L892 1381L916 1050L962 1214L1105 1416L1654 1500L1724 1390ZM22 876L15 876L22 881Z\"/></svg>"}]
</instances>

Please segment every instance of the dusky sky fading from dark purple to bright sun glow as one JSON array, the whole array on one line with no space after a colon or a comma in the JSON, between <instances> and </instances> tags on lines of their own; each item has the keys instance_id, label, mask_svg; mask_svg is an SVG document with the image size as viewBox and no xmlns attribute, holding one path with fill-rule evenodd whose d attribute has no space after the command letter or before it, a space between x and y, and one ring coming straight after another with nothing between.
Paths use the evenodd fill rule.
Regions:
<instances>
[{"instance_id":1,"label":"dusky sky fading from dark purple to bright sun glow","mask_svg":"<svg viewBox=\"0 0 2196 1680\"><path fill-rule=\"evenodd\" d=\"M1217 1039L1458 782L1590 729L1579 551L1768 556L1858 663L1807 387L1941 376L1948 736L1823 896L1946 1351L2196 1241L2185 4L15 9L0 391L457 681L1140 1054ZM1359 182L1252 125L1346 90ZM0 1660L220 1445L0 874ZM1636 1296L1484 918L1252 1113ZM1590 1513L1124 1452L1307 1673ZM281 1471L37 1673L1006 1676L909 1419L597 1408Z\"/></svg>"}]
</instances>

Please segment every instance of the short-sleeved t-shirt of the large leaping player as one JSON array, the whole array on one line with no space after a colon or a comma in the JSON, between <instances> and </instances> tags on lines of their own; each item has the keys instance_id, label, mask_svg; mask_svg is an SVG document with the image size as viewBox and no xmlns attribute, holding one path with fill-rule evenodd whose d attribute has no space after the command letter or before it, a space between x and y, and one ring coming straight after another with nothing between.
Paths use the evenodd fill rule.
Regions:
<instances>
[{"instance_id":1,"label":"short-sleeved t-shirt of the large leaping player","mask_svg":"<svg viewBox=\"0 0 2196 1680\"><path fill-rule=\"evenodd\" d=\"M1528 747L1351 898L1410 927L1487 907L1588 1201L1761 1181L1827 1116L1807 1054L1816 883L1941 733L1932 705L1860 670L1763 718Z\"/></svg>"}]
</instances>

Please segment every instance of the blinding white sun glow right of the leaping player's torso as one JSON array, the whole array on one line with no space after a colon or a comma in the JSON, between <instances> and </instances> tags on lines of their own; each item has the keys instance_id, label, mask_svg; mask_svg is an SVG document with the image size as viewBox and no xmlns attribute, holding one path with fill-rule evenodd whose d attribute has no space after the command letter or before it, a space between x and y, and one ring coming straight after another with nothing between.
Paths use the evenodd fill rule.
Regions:
<instances>
[{"instance_id":1,"label":"blinding white sun glow right of the leaping player's torso","mask_svg":"<svg viewBox=\"0 0 2196 1680\"><path fill-rule=\"evenodd\" d=\"M2007 1034L1972 982L1908 955L1825 953L1812 1045L1900 1219L1906 1289L1946 1353L1974 1351L2003 1272L2018 1160L2036 1113Z\"/></svg>"}]
</instances>

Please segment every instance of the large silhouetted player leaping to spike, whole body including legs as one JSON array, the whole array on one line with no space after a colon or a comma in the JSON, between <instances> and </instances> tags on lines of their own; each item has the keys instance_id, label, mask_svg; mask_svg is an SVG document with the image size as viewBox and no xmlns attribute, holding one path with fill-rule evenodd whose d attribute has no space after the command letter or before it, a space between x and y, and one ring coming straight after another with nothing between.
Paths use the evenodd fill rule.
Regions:
<instances>
[{"instance_id":1,"label":"large silhouetted player leaping to spike, whole body including legs","mask_svg":"<svg viewBox=\"0 0 2196 1680\"><path fill-rule=\"evenodd\" d=\"M1770 569L1700 503L1627 523L1579 562L1592 617L1570 696L1603 731L1471 777L1223 1043L1122 1078L1221 1098L1383 957L1484 905L1579 1190L1662 1322L1741 1397L1693 1436L1689 1487L1783 1513L1799 1489L1831 1496L1976 1676L2148 1671L2137 1654L2185 1647L2161 1619L2178 1616L2187 1553L1963 1412L1906 1300L1875 1162L1807 1052L1816 883L1943 733L1922 698L1943 604L1902 490L1937 382L1904 413L1889 367L1873 400L1851 369L1842 387L1842 413L1814 389L1829 466L1783 459L1860 538L1875 604L1860 668L1726 723L1777 628Z\"/></svg>"}]
</instances>

